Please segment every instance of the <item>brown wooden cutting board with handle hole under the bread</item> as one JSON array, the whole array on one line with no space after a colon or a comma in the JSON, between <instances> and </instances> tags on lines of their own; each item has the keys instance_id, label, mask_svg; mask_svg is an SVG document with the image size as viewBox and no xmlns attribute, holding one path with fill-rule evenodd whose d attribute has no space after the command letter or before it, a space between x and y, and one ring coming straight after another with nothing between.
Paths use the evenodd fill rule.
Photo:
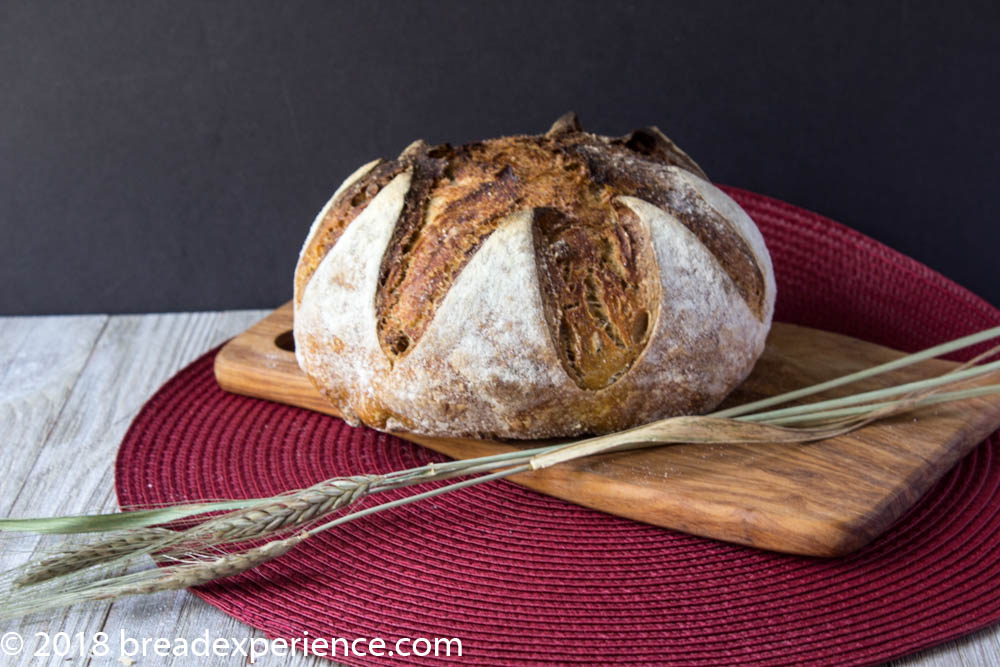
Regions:
<instances>
[{"instance_id":1,"label":"brown wooden cutting board with handle hole under the bread","mask_svg":"<svg viewBox=\"0 0 1000 667\"><path fill-rule=\"evenodd\" d=\"M231 340L215 360L219 384L238 394L337 415L299 370L291 330L288 303ZM753 374L725 405L791 391L899 356L847 336L775 323ZM953 366L930 360L823 397L926 378ZM840 556L885 531L998 426L1000 398L990 396L926 408L818 443L669 445L605 454L510 479L579 505L695 535L794 554ZM400 435L458 459L538 444Z\"/></svg>"}]
</instances>

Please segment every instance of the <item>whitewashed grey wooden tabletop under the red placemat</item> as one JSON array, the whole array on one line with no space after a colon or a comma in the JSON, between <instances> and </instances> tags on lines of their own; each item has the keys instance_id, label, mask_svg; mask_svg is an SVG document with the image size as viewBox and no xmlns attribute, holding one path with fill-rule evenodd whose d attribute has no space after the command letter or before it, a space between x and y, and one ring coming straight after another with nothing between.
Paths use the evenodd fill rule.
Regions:
<instances>
[{"instance_id":1,"label":"whitewashed grey wooden tabletop under the red placemat","mask_svg":"<svg viewBox=\"0 0 1000 667\"><path fill-rule=\"evenodd\" d=\"M269 311L0 317L0 500L9 517L82 514L116 509L113 468L118 443L132 418L171 375L207 349L239 333ZM3 536L0 569L18 565L56 540ZM30 644L36 632L113 638L262 637L187 592L160 593L13 622L0 635L18 632ZM123 664L117 639L108 657L0 657L4 665ZM466 648L468 654L468 647ZM127 661L126 661L127 662ZM168 664L145 657L137 667ZM212 660L243 665L246 659ZM301 655L268 656L258 664L329 665ZM894 665L1000 664L1000 625L899 660Z\"/></svg>"}]
</instances>

